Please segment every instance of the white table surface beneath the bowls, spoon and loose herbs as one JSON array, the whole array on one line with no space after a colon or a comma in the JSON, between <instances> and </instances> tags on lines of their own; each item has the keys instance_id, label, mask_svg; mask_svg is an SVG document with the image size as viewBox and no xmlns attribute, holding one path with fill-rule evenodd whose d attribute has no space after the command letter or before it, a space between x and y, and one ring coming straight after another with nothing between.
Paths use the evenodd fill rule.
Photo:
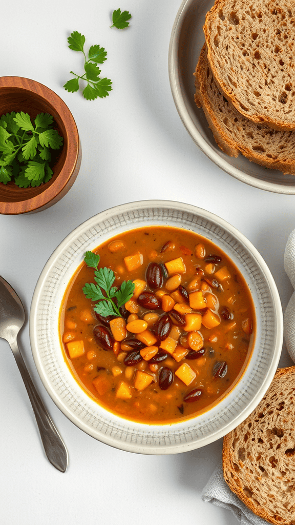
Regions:
<instances>
[{"instance_id":1,"label":"white table surface beneath the bowls, spoon and loose herbs","mask_svg":"<svg viewBox=\"0 0 295 525\"><path fill-rule=\"evenodd\" d=\"M247 186L221 171L194 144L178 117L168 80L168 45L181 0L14 0L1 6L0 75L44 83L76 120L82 164L69 193L49 209L0 216L0 274L28 315L34 288L52 251L72 229L109 207L143 199L187 202L238 228L266 260L285 310L292 289L283 252L295 227L295 196ZM132 14L110 29L113 9ZM113 91L87 101L62 87L82 67L70 50L73 30L86 48L108 51L102 65ZM65 440L69 466L52 467L43 451L25 387L8 343L0 340L0 524L234 525L236 518L201 492L220 461L222 440L183 454L148 456L104 445L59 411L41 384L28 323L20 345L31 375ZM280 365L291 364L285 347Z\"/></svg>"}]
</instances>

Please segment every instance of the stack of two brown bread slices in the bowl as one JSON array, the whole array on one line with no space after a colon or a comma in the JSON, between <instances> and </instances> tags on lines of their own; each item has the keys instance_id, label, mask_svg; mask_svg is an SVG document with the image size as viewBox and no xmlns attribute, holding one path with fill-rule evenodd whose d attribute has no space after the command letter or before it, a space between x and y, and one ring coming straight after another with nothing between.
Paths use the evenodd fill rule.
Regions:
<instances>
[{"instance_id":1,"label":"stack of two brown bread slices in the bowl","mask_svg":"<svg viewBox=\"0 0 295 525\"><path fill-rule=\"evenodd\" d=\"M224 152L295 175L295 2L216 0L195 102Z\"/></svg>"}]
</instances>

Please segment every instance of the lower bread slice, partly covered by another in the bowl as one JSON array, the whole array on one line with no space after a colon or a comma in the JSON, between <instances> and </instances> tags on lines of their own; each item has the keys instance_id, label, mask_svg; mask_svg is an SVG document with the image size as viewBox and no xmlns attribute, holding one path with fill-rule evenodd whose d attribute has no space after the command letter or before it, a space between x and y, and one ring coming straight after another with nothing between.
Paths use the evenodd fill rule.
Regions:
<instances>
[{"instance_id":1,"label":"lower bread slice, partly covered by another in the bowl","mask_svg":"<svg viewBox=\"0 0 295 525\"><path fill-rule=\"evenodd\" d=\"M277 131L244 117L220 93L203 46L195 71L195 102L202 107L214 138L225 153L295 175L295 131Z\"/></svg>"}]
</instances>

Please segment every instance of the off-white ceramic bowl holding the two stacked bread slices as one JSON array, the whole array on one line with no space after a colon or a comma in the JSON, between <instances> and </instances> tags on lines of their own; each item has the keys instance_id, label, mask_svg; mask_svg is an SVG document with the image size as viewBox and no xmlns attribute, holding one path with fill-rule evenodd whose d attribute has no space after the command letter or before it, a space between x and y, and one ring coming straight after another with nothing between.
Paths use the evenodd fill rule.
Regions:
<instances>
[{"instance_id":1,"label":"off-white ceramic bowl holding the two stacked bread slices","mask_svg":"<svg viewBox=\"0 0 295 525\"><path fill-rule=\"evenodd\" d=\"M195 143L222 170L251 186L276 193L295 194L294 175L283 175L248 161L243 155L229 157L217 146L201 109L194 101L195 77L205 42L203 25L214 0L183 0L172 29L169 48L169 78L181 120Z\"/></svg>"}]
</instances>

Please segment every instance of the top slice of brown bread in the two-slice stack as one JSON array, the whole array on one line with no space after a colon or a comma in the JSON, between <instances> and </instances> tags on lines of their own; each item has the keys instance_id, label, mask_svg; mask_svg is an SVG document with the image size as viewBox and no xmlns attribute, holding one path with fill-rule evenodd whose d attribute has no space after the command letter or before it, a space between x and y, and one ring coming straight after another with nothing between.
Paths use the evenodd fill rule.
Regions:
<instances>
[{"instance_id":1,"label":"top slice of brown bread in the two-slice stack","mask_svg":"<svg viewBox=\"0 0 295 525\"><path fill-rule=\"evenodd\" d=\"M294 0L216 0L204 33L210 68L237 110L295 130Z\"/></svg>"}]
</instances>

